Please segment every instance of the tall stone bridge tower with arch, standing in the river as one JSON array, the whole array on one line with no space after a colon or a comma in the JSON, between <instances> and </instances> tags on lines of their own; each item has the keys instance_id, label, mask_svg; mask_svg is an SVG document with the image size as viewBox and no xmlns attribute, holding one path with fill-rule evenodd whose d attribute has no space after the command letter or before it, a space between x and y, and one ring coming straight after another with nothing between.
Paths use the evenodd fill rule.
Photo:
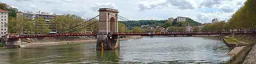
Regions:
<instances>
[{"instance_id":1,"label":"tall stone bridge tower with arch, standing in the river","mask_svg":"<svg viewBox=\"0 0 256 64\"><path fill-rule=\"evenodd\" d=\"M118 10L99 9L99 32L97 34L97 50L119 48L119 39L113 32L118 32Z\"/></svg>"}]
</instances>

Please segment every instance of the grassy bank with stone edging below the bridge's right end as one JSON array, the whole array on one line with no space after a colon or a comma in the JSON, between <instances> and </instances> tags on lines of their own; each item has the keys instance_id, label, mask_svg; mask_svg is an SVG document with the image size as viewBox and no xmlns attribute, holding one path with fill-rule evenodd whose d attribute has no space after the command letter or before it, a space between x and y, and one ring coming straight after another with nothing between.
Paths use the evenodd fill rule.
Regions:
<instances>
[{"instance_id":1,"label":"grassy bank with stone edging below the bridge's right end","mask_svg":"<svg viewBox=\"0 0 256 64\"><path fill-rule=\"evenodd\" d=\"M256 39L252 37L253 35L235 35L232 37L224 37L224 41L227 45L232 44L235 45L233 50L238 49L240 46L245 46L241 49L240 52L236 52L236 54L232 55L232 58L226 62L226 64L242 64L247 57L248 53L254 46L253 40ZM250 40L248 40L250 38ZM233 51L231 51L233 52Z\"/></svg>"}]
</instances>

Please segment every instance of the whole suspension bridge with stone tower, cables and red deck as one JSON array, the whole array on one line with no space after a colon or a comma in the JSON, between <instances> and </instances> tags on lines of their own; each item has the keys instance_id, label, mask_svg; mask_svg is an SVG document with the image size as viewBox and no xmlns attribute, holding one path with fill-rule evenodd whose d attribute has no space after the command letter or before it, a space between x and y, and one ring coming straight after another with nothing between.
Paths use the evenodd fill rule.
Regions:
<instances>
[{"instance_id":1,"label":"whole suspension bridge with stone tower, cables and red deck","mask_svg":"<svg viewBox=\"0 0 256 64\"><path fill-rule=\"evenodd\" d=\"M129 20L125 17L118 15L118 10L102 8L99 9L98 21L90 23L84 26L85 23L90 22L95 19L93 17L90 20L85 21L79 25L73 26L72 28L66 29L64 31L58 32L54 35L23 35L23 36L12 36L7 37L10 45L19 45L21 38L47 38L47 37L70 37L70 36L96 36L97 50L105 49L115 49L119 48L119 39L118 36L121 35L141 35L141 36L155 36L155 35L252 35L256 34L253 31L201 31L201 32L118 32L118 19L125 21L126 23L134 23L134 21ZM96 22L99 22L99 32L97 33L72 33L79 29L88 27ZM76 29L78 26L81 28ZM72 29L72 31L70 31Z\"/></svg>"}]
</instances>

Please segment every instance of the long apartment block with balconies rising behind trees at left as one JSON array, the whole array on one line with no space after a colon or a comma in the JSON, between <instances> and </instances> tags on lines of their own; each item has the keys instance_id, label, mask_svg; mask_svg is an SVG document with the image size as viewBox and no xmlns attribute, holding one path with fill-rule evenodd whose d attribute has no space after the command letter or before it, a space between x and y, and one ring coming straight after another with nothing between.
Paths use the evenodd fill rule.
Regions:
<instances>
[{"instance_id":1,"label":"long apartment block with balconies rising behind trees at left","mask_svg":"<svg viewBox=\"0 0 256 64\"><path fill-rule=\"evenodd\" d=\"M37 12L37 13L33 13L33 12L22 12L22 13L17 13L17 17L26 17L29 21L34 22L33 20L35 19L43 19L46 22L46 25L48 26L49 29L52 30L52 32L57 32L56 29L56 24L50 22L51 20L53 20L57 15L55 14L48 14L48 13L43 13L43 12ZM55 27L50 27L50 26L55 26ZM38 29L42 29L42 26L38 26Z\"/></svg>"}]
</instances>

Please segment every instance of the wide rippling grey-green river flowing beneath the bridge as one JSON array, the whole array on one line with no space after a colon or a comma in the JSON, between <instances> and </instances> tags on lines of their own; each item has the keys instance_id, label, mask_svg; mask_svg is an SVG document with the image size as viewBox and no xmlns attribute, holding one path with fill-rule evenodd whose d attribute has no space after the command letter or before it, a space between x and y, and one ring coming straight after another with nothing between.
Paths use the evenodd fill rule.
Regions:
<instances>
[{"instance_id":1,"label":"wide rippling grey-green river flowing beneath the bridge","mask_svg":"<svg viewBox=\"0 0 256 64\"><path fill-rule=\"evenodd\" d=\"M221 64L229 51L211 38L140 38L105 51L97 51L96 43L0 49L0 64Z\"/></svg>"}]
</instances>

